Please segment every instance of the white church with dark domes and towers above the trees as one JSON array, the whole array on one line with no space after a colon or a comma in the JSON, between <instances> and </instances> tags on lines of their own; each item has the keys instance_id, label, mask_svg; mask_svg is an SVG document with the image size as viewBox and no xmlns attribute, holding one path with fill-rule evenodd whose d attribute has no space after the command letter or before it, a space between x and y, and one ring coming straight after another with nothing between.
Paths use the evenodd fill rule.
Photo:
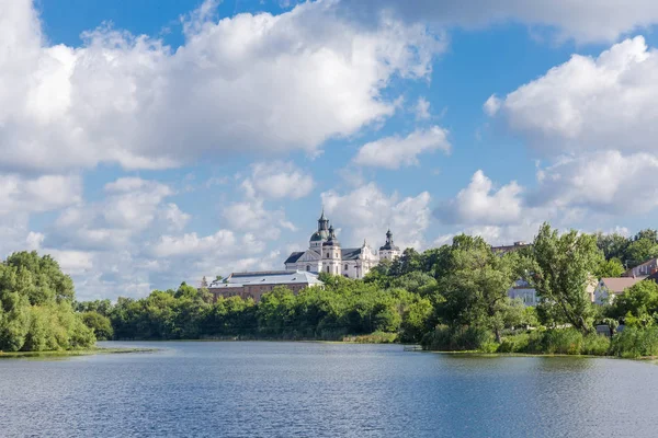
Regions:
<instances>
[{"instance_id":1,"label":"white church with dark domes and towers above the trees","mask_svg":"<svg viewBox=\"0 0 658 438\"><path fill-rule=\"evenodd\" d=\"M361 247L341 247L333 226L325 217L318 219L318 230L310 237L308 250L292 253L285 261L286 270L329 273L350 278L363 278L381 260L399 257L400 249L393 243L393 233L386 232L386 243L377 253L364 240Z\"/></svg>"}]
</instances>

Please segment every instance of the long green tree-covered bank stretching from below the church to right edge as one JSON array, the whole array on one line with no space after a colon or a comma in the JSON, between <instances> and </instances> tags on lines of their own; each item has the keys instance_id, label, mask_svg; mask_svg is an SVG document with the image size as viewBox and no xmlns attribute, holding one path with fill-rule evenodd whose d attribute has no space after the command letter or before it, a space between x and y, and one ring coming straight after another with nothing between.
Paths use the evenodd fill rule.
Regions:
<instances>
[{"instance_id":1,"label":"long green tree-covered bank stretching from below the church to right edge","mask_svg":"<svg viewBox=\"0 0 658 438\"><path fill-rule=\"evenodd\" d=\"M658 355L658 285L638 283L604 307L590 296L599 278L657 255L657 234L560 234L544 224L531 245L509 253L457 235L422 253L408 249L364 279L321 274L324 288L293 295L279 287L259 303L213 301L204 288L183 283L114 304L78 303L77 310L102 338L395 341L440 350ZM518 280L535 288L536 308L508 298ZM612 338L598 335L597 324L609 326Z\"/></svg>"}]
</instances>

